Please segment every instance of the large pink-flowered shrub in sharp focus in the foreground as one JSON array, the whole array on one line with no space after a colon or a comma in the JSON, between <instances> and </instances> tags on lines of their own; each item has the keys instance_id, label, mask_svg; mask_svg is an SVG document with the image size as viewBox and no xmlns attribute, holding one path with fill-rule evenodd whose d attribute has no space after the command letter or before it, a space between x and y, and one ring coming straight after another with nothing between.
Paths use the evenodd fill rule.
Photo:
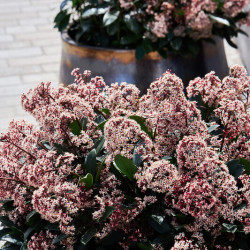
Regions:
<instances>
[{"instance_id":1,"label":"large pink-flowered shrub in sharp focus in the foreground","mask_svg":"<svg viewBox=\"0 0 250 250\"><path fill-rule=\"evenodd\" d=\"M187 88L167 71L146 95L40 83L22 105L40 128L0 136L5 249L249 249L250 77ZM194 101L196 100L196 101Z\"/></svg>"}]
</instances>

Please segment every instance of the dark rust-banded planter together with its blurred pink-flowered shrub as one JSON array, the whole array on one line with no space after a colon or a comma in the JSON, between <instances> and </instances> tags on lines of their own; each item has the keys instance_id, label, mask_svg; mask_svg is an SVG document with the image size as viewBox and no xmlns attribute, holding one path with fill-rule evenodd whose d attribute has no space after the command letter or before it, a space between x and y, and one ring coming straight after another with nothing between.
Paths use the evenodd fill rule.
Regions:
<instances>
[{"instance_id":1,"label":"dark rust-banded planter together with its blurred pink-flowered shrub","mask_svg":"<svg viewBox=\"0 0 250 250\"><path fill-rule=\"evenodd\" d=\"M242 32L239 24L249 22L247 2L64 0L55 17L63 40L60 80L72 83L70 72L81 67L145 93L166 69L185 84L211 70L224 77L220 38L235 46L231 38Z\"/></svg>"}]
</instances>

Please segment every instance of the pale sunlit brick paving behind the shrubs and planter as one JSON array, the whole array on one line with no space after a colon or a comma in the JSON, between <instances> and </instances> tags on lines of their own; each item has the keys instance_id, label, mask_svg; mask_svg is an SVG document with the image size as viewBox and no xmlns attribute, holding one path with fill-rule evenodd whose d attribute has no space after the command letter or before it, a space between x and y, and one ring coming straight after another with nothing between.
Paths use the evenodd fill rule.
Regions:
<instances>
[{"instance_id":1,"label":"pale sunlit brick paving behind the shrubs and planter","mask_svg":"<svg viewBox=\"0 0 250 250\"><path fill-rule=\"evenodd\" d=\"M53 19L60 0L0 0L0 132L13 118L33 121L20 96L40 81L58 84L61 42ZM226 46L228 63L240 63Z\"/></svg>"}]
</instances>

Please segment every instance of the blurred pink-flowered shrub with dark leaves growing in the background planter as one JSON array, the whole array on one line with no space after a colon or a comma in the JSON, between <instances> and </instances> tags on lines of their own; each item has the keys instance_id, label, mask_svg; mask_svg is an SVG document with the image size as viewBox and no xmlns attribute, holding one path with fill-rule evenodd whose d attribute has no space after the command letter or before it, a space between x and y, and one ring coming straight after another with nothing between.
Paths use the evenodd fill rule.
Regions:
<instances>
[{"instance_id":1,"label":"blurred pink-flowered shrub with dark leaves growing in the background planter","mask_svg":"<svg viewBox=\"0 0 250 250\"><path fill-rule=\"evenodd\" d=\"M237 36L250 24L248 0L64 0L55 17L80 44L136 48L137 59L150 51L197 55L201 40ZM244 33L244 32L243 32Z\"/></svg>"}]
</instances>

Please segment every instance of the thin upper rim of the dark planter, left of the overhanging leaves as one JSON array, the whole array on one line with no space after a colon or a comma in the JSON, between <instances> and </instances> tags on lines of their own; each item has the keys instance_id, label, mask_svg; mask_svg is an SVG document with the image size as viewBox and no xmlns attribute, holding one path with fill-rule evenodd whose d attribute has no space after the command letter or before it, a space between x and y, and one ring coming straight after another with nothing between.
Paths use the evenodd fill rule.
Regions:
<instances>
[{"instance_id":1,"label":"thin upper rim of the dark planter, left of the overhanging leaves","mask_svg":"<svg viewBox=\"0 0 250 250\"><path fill-rule=\"evenodd\" d=\"M67 31L64 31L61 33L61 38L64 42L73 46L81 47L81 48L100 50L100 51L135 52L135 49L105 48L105 47L99 47L99 46L78 44L69 36Z\"/></svg>"}]
</instances>

